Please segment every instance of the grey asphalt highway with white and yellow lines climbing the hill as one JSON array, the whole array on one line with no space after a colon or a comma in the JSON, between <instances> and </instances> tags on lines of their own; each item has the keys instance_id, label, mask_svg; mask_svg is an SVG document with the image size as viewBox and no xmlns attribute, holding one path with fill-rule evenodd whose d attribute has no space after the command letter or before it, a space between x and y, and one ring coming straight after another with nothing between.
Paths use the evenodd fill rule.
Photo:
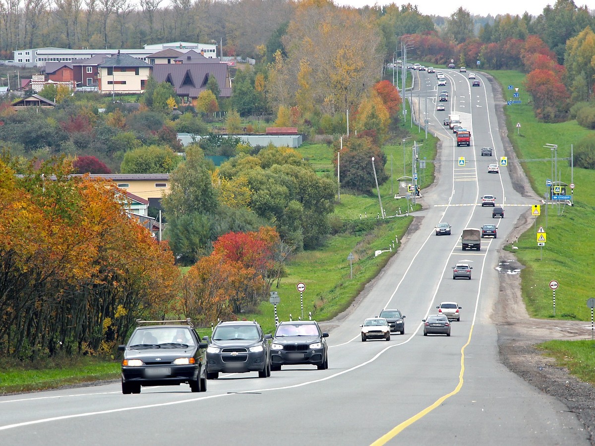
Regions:
<instances>
[{"instance_id":1,"label":"grey asphalt highway with white and yellow lines climbing the hill","mask_svg":"<svg viewBox=\"0 0 595 446\"><path fill-rule=\"evenodd\" d=\"M121 394L120 383L0 397L0 444L61 445L583 445L587 434L574 414L536 390L499 361L492 312L498 304L498 250L521 213L535 201L512 188L506 167L487 165L505 156L490 83L478 74L443 70L446 111L436 111L434 74L417 73L418 96L431 130L443 141L438 180L424 191L417 226L358 306L322 323L329 368L284 366L270 378L242 373L208 381L206 393L187 385ZM418 89L421 87L421 90ZM428 98L428 99L425 99ZM470 147L456 147L442 125L449 110L471 130ZM424 119L422 115L422 119ZM423 121L422 121L423 122ZM482 146L494 155L481 157ZM459 157L465 165L459 165ZM494 194L506 218L492 219L480 197ZM440 221L452 235L434 235ZM481 250L461 250L465 227L496 223L498 238ZM472 279L453 280L458 260L473 266ZM452 336L422 335L422 322L444 300L462 306ZM362 343L359 324L383 308L406 315L405 334Z\"/></svg>"}]
</instances>

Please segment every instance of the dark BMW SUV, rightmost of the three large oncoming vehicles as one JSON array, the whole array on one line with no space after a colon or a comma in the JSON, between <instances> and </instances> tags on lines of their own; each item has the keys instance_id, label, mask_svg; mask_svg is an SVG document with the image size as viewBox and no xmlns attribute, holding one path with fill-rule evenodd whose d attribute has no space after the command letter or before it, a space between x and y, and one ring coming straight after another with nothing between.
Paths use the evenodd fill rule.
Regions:
<instances>
[{"instance_id":1,"label":"dark BMW SUV, rightmost of the three large oncoming vehicles","mask_svg":"<svg viewBox=\"0 0 595 446\"><path fill-rule=\"evenodd\" d=\"M312 364L328 369L328 333L316 321L281 322L271 344L271 369L282 365Z\"/></svg>"}]
</instances>

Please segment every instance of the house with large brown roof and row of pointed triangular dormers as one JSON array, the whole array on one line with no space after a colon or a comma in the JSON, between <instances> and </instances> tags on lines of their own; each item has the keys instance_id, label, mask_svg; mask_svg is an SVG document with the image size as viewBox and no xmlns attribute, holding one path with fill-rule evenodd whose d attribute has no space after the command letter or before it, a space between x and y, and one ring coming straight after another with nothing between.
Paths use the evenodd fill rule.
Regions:
<instances>
[{"instance_id":1,"label":"house with large brown roof and row of pointed triangular dormers","mask_svg":"<svg viewBox=\"0 0 595 446\"><path fill-rule=\"evenodd\" d=\"M206 90L206 84L211 76L217 80L221 91L220 97L231 96L227 64L222 64L217 59L205 58L205 61L201 60L198 63L156 64L153 67L152 76L157 82L169 82L173 85L184 104L196 105L198 95Z\"/></svg>"}]
</instances>

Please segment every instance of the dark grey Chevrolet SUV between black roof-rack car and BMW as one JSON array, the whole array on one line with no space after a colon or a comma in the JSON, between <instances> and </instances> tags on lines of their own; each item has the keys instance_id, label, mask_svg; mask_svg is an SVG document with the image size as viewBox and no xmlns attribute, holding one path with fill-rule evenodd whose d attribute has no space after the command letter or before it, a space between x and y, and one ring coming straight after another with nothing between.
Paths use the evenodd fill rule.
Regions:
<instances>
[{"instance_id":1,"label":"dark grey Chevrolet SUV between black roof-rack car and BMW","mask_svg":"<svg viewBox=\"0 0 595 446\"><path fill-rule=\"evenodd\" d=\"M228 321L215 327L206 349L206 378L217 379L219 372L258 372L259 378L271 376L269 340L258 322ZM203 338L209 341L209 337Z\"/></svg>"}]
</instances>

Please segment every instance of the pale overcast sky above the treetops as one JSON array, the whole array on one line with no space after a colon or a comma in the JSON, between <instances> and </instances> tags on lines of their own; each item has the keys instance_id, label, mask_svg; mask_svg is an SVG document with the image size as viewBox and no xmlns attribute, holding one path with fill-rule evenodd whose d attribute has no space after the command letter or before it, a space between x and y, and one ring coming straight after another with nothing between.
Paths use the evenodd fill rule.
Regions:
<instances>
[{"instance_id":1,"label":"pale overcast sky above the treetops","mask_svg":"<svg viewBox=\"0 0 595 446\"><path fill-rule=\"evenodd\" d=\"M592 1L592 0L589 0ZM547 5L554 5L556 0L458 0L450 2L448 0L334 0L337 5L349 5L354 8L361 8L365 5L388 5L391 3L402 5L411 3L417 5L421 14L424 15L443 15L449 17L450 14L463 7L469 11L471 15L488 15L493 17L498 14L522 15L527 11L531 15L539 15ZM575 0L576 5L584 5L585 0ZM593 6L591 6L593 8Z\"/></svg>"}]
</instances>

